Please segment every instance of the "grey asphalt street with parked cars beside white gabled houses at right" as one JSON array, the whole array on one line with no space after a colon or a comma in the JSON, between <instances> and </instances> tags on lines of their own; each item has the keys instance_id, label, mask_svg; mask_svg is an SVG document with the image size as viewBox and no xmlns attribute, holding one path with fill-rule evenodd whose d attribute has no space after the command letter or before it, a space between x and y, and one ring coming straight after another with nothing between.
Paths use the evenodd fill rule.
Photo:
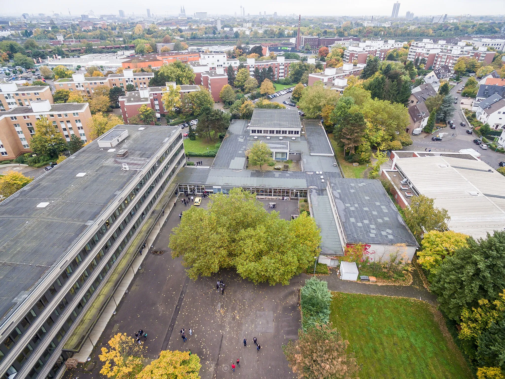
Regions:
<instances>
[{"instance_id":1,"label":"grey asphalt street with parked cars beside white gabled houses at right","mask_svg":"<svg viewBox=\"0 0 505 379\"><path fill-rule=\"evenodd\" d=\"M463 78L463 82L466 83L467 80L467 77ZM461 96L459 96L460 94L456 93L456 91L460 86L461 83L453 86L453 88L450 90L450 94L454 97L457 97L458 100L461 99ZM431 137L437 133L434 133L433 135L427 135L426 133L421 133L420 135L412 135L412 140L414 141L413 146L417 148L431 149L432 151L439 152L458 152L461 149L474 149L481 154L480 159L482 161L486 162L493 168L497 168L500 161L505 161L505 155L495 153L490 149L482 150L477 145L475 145L472 140L478 137L475 134L466 133L468 124L467 126L460 126L460 123L466 122L466 120L463 117L463 111L460 108L460 105L456 104L455 106L456 112L454 116L452 116L452 121L456 125L456 129L450 129L448 126L443 128L441 132L449 134L442 137L443 140L440 142L434 142L431 140ZM454 134L454 136L452 136L452 134Z\"/></svg>"}]
</instances>

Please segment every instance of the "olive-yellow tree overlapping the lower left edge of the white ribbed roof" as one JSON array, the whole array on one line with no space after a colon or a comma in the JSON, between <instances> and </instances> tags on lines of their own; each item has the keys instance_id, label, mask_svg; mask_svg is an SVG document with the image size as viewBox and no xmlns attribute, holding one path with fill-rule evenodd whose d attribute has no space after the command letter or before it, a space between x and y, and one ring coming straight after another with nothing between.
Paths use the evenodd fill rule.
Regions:
<instances>
[{"instance_id":1,"label":"olive-yellow tree overlapping the lower left edge of the white ribbed roof","mask_svg":"<svg viewBox=\"0 0 505 379\"><path fill-rule=\"evenodd\" d=\"M424 195L414 196L405 210L405 222L418 242L431 230L446 230L450 217L447 210L435 208L435 201Z\"/></svg>"}]
</instances>

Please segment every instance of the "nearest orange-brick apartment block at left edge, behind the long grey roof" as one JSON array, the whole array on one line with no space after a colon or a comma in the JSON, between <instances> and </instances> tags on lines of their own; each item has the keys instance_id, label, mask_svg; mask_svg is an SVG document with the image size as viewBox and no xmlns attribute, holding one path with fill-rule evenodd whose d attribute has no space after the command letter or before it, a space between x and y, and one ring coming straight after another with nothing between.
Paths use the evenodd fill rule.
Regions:
<instances>
[{"instance_id":1,"label":"nearest orange-brick apartment block at left edge, behind the long grey roof","mask_svg":"<svg viewBox=\"0 0 505 379\"><path fill-rule=\"evenodd\" d=\"M49 100L31 102L28 107L14 107L0 113L0 161L12 160L30 153L30 140L35 134L35 122L45 117L67 141L72 134L84 142L90 140L88 103L51 104Z\"/></svg>"}]
</instances>

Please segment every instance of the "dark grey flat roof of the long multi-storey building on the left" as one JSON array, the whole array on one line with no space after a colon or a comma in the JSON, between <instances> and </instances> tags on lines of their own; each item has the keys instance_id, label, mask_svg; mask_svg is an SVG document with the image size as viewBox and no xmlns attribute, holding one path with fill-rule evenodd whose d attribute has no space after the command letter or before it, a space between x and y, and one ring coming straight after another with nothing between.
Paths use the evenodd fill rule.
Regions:
<instances>
[{"instance_id":1,"label":"dark grey flat roof of the long multi-storey building on the left","mask_svg":"<svg viewBox=\"0 0 505 379\"><path fill-rule=\"evenodd\" d=\"M63 104L62 104L63 105ZM118 147L128 156L98 147L79 150L51 171L0 203L0 318L4 319L35 284L58 268L65 253L143 169L178 127L118 125L129 136ZM114 132L114 129L112 129ZM76 177L85 172L83 177ZM40 203L49 203L37 208ZM16 299L16 300L15 300Z\"/></svg>"}]
</instances>

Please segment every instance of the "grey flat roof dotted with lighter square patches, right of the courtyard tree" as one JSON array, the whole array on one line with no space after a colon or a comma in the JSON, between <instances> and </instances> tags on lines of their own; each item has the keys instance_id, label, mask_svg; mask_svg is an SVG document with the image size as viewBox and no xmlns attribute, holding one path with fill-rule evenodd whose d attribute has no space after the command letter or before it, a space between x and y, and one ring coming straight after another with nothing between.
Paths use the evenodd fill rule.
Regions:
<instances>
[{"instance_id":1,"label":"grey flat roof dotted with lighter square patches, right of the courtyard tree","mask_svg":"<svg viewBox=\"0 0 505 379\"><path fill-rule=\"evenodd\" d=\"M419 246L380 180L331 178L329 182L347 242Z\"/></svg>"}]
</instances>

